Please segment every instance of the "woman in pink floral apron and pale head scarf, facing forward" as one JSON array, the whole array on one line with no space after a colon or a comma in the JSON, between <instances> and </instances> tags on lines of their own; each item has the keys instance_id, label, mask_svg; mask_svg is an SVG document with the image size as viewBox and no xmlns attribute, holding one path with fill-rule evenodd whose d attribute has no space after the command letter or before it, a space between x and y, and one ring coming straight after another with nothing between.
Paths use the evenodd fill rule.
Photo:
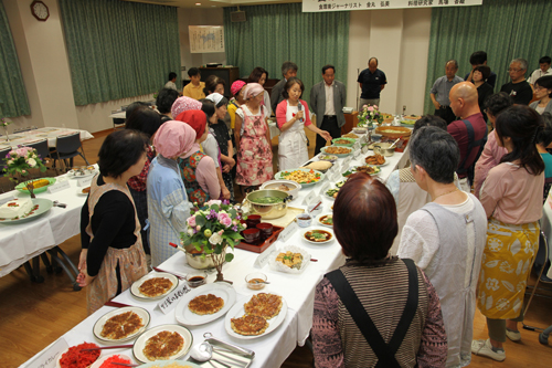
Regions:
<instances>
[{"instance_id":1,"label":"woman in pink floral apron and pale head scarf, facing forward","mask_svg":"<svg viewBox=\"0 0 552 368\"><path fill-rule=\"evenodd\" d=\"M266 106L261 105L264 91L258 83L247 84L244 91L246 102L236 111L236 182L245 191L273 178L270 130L266 122L268 112Z\"/></svg>"}]
</instances>

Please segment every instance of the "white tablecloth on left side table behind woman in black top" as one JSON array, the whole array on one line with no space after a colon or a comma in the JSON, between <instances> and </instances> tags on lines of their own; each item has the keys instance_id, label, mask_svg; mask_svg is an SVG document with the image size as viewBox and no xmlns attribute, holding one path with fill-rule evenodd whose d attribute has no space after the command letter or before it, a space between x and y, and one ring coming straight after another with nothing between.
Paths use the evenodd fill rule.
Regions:
<instances>
[{"instance_id":1,"label":"white tablecloth on left side table behind woman in black top","mask_svg":"<svg viewBox=\"0 0 552 368\"><path fill-rule=\"evenodd\" d=\"M56 179L68 180L71 188L53 194L38 193L36 198L57 200L67 204L66 208L53 207L41 218L20 224L0 222L0 277L81 232L81 208L86 197L77 194L82 189L77 188L77 180L67 175ZM19 191L0 194L0 199L9 197L29 198L29 194Z\"/></svg>"}]
</instances>

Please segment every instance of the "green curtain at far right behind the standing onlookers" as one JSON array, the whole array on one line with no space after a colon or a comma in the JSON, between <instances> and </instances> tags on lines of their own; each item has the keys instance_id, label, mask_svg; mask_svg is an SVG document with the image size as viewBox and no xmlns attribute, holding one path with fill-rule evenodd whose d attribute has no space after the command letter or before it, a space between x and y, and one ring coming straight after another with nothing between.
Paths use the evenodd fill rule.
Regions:
<instances>
[{"instance_id":1,"label":"green curtain at far right behind the standing onlookers","mask_svg":"<svg viewBox=\"0 0 552 368\"><path fill-rule=\"evenodd\" d=\"M480 7L434 8L424 111L435 108L429 90L445 75L445 63L456 59L458 76L470 70L469 56L475 51L487 52L487 64L497 73L497 85L510 81L510 61L523 57L529 62L526 77L539 67L539 59L551 55L552 1L550 0L485 0Z\"/></svg>"}]
</instances>

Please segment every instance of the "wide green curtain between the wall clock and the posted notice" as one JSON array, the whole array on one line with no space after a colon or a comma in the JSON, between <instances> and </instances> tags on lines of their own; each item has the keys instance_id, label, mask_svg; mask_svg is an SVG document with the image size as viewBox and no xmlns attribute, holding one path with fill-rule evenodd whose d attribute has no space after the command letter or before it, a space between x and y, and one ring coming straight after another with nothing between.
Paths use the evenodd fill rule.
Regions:
<instances>
[{"instance_id":1,"label":"wide green curtain between the wall clock and the posted notice","mask_svg":"<svg viewBox=\"0 0 552 368\"><path fill-rule=\"evenodd\" d=\"M60 0L75 105L180 85L177 8L116 0Z\"/></svg>"}]
</instances>

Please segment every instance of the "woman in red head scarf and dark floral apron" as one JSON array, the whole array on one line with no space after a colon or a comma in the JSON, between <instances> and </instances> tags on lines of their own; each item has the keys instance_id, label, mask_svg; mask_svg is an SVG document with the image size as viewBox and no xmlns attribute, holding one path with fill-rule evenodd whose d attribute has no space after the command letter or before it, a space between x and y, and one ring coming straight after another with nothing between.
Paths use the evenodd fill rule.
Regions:
<instances>
[{"instance_id":1,"label":"woman in red head scarf and dark floral apron","mask_svg":"<svg viewBox=\"0 0 552 368\"><path fill-rule=\"evenodd\" d=\"M200 151L200 144L208 137L206 115L202 111L188 111L177 117L195 130L193 145L180 155L179 166L185 183L188 200L201 207L210 199L219 199L221 186L214 160Z\"/></svg>"}]
</instances>

